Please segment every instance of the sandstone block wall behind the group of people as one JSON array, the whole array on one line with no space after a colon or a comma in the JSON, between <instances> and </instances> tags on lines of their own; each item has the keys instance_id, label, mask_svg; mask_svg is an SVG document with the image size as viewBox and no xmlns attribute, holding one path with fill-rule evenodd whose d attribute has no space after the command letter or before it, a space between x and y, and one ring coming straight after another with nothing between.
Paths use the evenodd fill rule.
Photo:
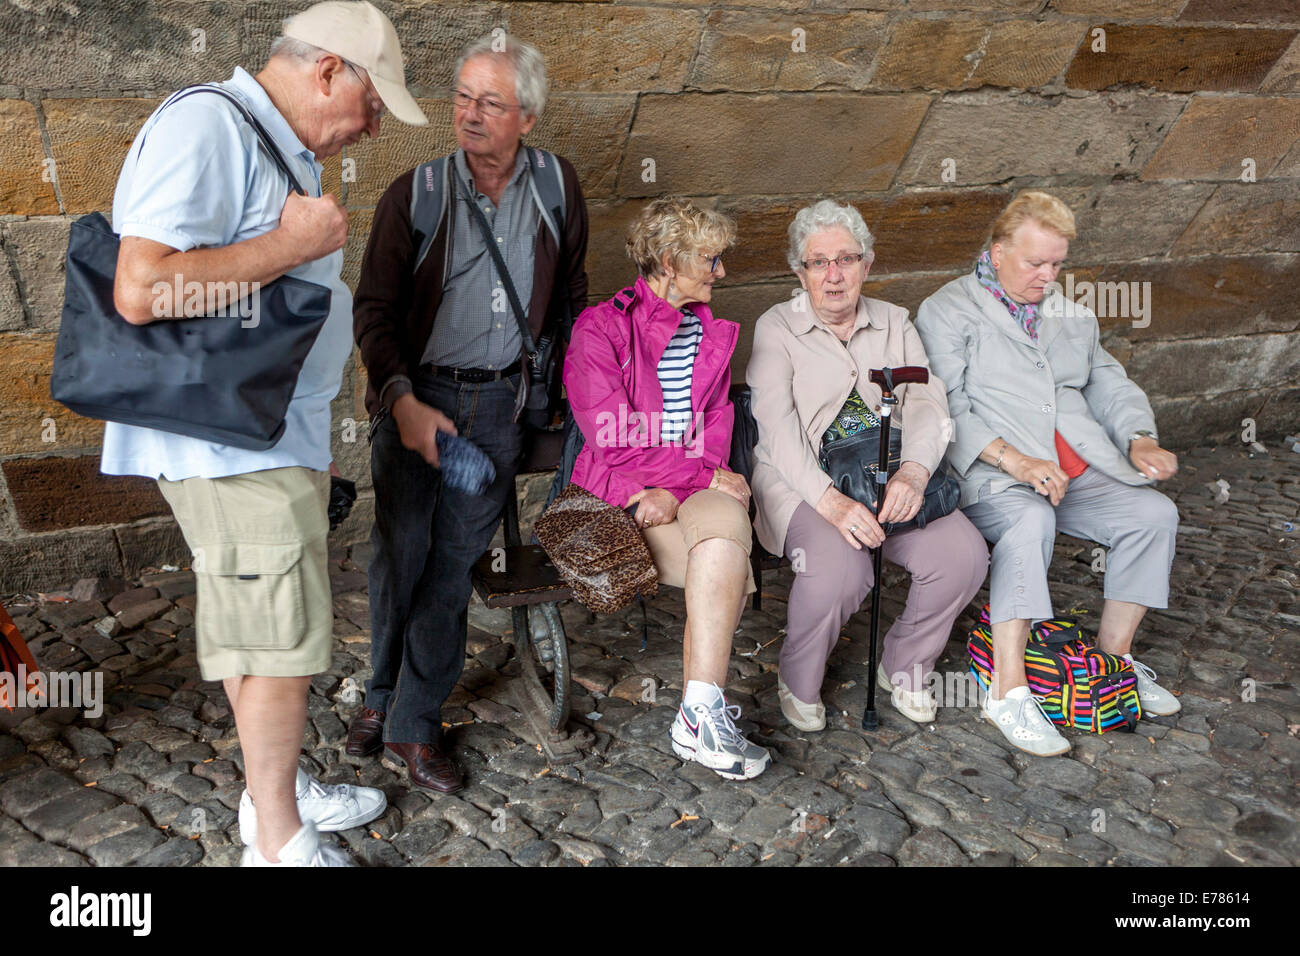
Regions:
<instances>
[{"instance_id":1,"label":"sandstone block wall behind the group of people","mask_svg":"<svg viewBox=\"0 0 1300 956\"><path fill-rule=\"evenodd\" d=\"M99 476L103 425L49 398L68 224L110 208L162 96L260 68L304 5L0 3L0 593L187 563L156 488ZM1169 444L1238 440L1243 418L1262 438L1297 431L1297 0L378 5L432 125L387 120L326 163L351 216L350 282L382 190L454 146L456 51L504 27L550 64L532 139L578 169L595 297L632 278L623 230L646 198L681 193L737 217L715 294L744 330L737 378L754 319L797 285L785 226L805 202L857 203L878 235L868 294L915 310L1036 186L1078 215L1079 287L1150 284L1147 316L1102 326ZM350 363L334 451L363 497L339 540L364 536L372 512L364 388Z\"/></svg>"}]
</instances>

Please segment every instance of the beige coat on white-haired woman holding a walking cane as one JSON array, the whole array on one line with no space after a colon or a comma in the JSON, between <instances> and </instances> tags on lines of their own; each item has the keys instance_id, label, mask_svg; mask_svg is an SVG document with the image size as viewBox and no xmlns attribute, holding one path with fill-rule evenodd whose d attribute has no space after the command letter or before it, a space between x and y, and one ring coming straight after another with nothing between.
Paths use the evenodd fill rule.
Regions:
<instances>
[{"instance_id":1,"label":"beige coat on white-haired woman holding a walking cane","mask_svg":"<svg viewBox=\"0 0 1300 956\"><path fill-rule=\"evenodd\" d=\"M928 368L930 360L907 310L888 302L858 298L848 347L816 317L805 291L759 316L745 377L758 423L754 529L768 551L784 553L785 531L800 502L815 509L831 486L818 453L849 393L857 388L879 412L880 388L871 384L871 369L898 365ZM948 445L945 395L944 382L933 375L927 385L898 388L894 421L902 427L902 460L930 473Z\"/></svg>"}]
</instances>

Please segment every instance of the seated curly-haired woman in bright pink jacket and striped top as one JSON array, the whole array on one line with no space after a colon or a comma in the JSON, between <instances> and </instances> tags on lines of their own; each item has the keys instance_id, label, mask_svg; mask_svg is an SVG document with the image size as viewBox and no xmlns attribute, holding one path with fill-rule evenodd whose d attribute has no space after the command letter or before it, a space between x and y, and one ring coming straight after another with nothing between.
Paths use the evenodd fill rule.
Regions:
<instances>
[{"instance_id":1,"label":"seated curly-haired woman in bright pink jacket and striped top","mask_svg":"<svg viewBox=\"0 0 1300 956\"><path fill-rule=\"evenodd\" d=\"M728 706L732 633L754 591L749 485L728 467L731 356L740 326L714 319L712 285L736 228L682 199L651 202L628 232L640 277L578 316L564 388L586 444L573 483L634 518L659 580L686 592L672 749L729 779L771 756Z\"/></svg>"}]
</instances>

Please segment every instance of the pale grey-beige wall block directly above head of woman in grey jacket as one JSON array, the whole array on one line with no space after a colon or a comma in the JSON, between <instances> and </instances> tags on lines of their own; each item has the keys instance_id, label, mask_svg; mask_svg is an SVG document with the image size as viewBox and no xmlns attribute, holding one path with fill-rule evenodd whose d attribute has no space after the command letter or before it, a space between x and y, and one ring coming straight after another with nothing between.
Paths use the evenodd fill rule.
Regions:
<instances>
[{"instance_id":1,"label":"pale grey-beige wall block directly above head of woman in grey jacket","mask_svg":"<svg viewBox=\"0 0 1300 956\"><path fill-rule=\"evenodd\" d=\"M1114 176L1136 172L1154 152L1182 100L1152 94L1062 98L974 92L936 103L898 170L902 183L949 186L1017 176ZM1032 142L1031 151L1006 150Z\"/></svg>"}]
</instances>

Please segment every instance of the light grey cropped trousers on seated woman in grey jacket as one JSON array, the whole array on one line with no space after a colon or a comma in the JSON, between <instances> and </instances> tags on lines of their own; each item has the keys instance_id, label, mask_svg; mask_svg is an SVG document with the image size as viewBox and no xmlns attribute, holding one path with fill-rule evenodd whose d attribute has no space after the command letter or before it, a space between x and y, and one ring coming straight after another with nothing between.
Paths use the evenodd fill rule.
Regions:
<instances>
[{"instance_id":1,"label":"light grey cropped trousers on seated woman in grey jacket","mask_svg":"<svg viewBox=\"0 0 1300 956\"><path fill-rule=\"evenodd\" d=\"M1153 488L1134 488L1088 468L1071 479L1056 507L1027 485L963 509L993 545L989 620L1054 617L1048 566L1056 533L1105 545L1105 597L1147 607L1169 606L1178 509Z\"/></svg>"}]
</instances>

